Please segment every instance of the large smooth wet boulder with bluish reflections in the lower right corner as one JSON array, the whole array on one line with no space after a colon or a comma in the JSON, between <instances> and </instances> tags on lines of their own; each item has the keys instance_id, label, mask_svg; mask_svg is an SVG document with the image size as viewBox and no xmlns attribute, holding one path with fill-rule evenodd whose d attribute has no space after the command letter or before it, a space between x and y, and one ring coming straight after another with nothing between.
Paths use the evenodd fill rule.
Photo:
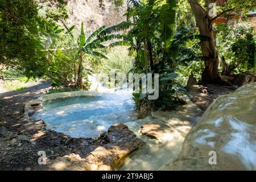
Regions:
<instances>
[{"instance_id":1,"label":"large smooth wet boulder with bluish reflections in the lower right corner","mask_svg":"<svg viewBox=\"0 0 256 182\"><path fill-rule=\"evenodd\" d=\"M255 111L256 83L218 97L162 169L256 170Z\"/></svg>"}]
</instances>

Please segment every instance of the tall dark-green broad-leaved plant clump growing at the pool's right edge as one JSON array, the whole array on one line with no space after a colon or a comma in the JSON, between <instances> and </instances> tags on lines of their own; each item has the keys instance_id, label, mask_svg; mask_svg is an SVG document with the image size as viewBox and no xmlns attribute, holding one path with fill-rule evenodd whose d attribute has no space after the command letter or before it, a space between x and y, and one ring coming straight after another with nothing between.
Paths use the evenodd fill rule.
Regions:
<instances>
[{"instance_id":1,"label":"tall dark-green broad-leaved plant clump growing at the pool's right edge","mask_svg":"<svg viewBox=\"0 0 256 182\"><path fill-rule=\"evenodd\" d=\"M137 1L128 2L125 14L133 21L133 27L127 34L131 52L135 51L135 63L131 72L159 73L159 98L148 100L148 94L133 94L137 107L141 104L159 109L171 108L179 103L179 95L185 89L177 82L177 66L191 60L201 60L187 42L205 40L199 35L189 35L190 30L181 28L174 35L176 1Z\"/></svg>"}]
</instances>

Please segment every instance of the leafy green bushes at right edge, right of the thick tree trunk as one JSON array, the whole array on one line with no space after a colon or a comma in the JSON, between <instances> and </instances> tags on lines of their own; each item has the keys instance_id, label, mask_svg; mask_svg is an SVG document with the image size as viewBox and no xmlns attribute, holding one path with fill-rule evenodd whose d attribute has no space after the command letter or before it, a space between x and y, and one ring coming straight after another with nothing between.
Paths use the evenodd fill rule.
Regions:
<instances>
[{"instance_id":1,"label":"leafy green bushes at right edge, right of the thick tree trunk","mask_svg":"<svg viewBox=\"0 0 256 182\"><path fill-rule=\"evenodd\" d=\"M251 24L218 25L217 46L233 73L255 71L255 35Z\"/></svg>"}]
</instances>

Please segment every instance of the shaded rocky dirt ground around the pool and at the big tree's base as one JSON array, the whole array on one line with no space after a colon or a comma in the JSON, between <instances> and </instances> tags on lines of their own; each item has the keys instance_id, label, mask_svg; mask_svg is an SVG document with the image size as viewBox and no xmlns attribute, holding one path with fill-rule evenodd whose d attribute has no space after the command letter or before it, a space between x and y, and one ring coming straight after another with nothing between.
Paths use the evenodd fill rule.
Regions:
<instances>
[{"instance_id":1,"label":"shaded rocky dirt ground around the pool and at the big tree's base","mask_svg":"<svg viewBox=\"0 0 256 182\"><path fill-rule=\"evenodd\" d=\"M49 89L50 82L42 81L24 90L0 93L0 170L117 169L127 155L143 146L123 125L113 126L98 139L77 139L46 130L43 121L24 119L24 104ZM191 94L206 109L214 98L230 92L230 88L197 85ZM39 151L46 152L46 165L38 164Z\"/></svg>"}]
</instances>

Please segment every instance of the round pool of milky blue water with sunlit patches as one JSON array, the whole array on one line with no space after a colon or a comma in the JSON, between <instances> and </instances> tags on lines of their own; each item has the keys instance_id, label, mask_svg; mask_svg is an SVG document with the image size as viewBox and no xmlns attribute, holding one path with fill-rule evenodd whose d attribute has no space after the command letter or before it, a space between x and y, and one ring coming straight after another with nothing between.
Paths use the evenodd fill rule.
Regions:
<instances>
[{"instance_id":1,"label":"round pool of milky blue water with sunlit patches","mask_svg":"<svg viewBox=\"0 0 256 182\"><path fill-rule=\"evenodd\" d=\"M44 109L32 117L45 121L47 129L71 137L98 137L114 123L137 118L131 97L131 92L124 90L99 96L60 97L44 101Z\"/></svg>"}]
</instances>

